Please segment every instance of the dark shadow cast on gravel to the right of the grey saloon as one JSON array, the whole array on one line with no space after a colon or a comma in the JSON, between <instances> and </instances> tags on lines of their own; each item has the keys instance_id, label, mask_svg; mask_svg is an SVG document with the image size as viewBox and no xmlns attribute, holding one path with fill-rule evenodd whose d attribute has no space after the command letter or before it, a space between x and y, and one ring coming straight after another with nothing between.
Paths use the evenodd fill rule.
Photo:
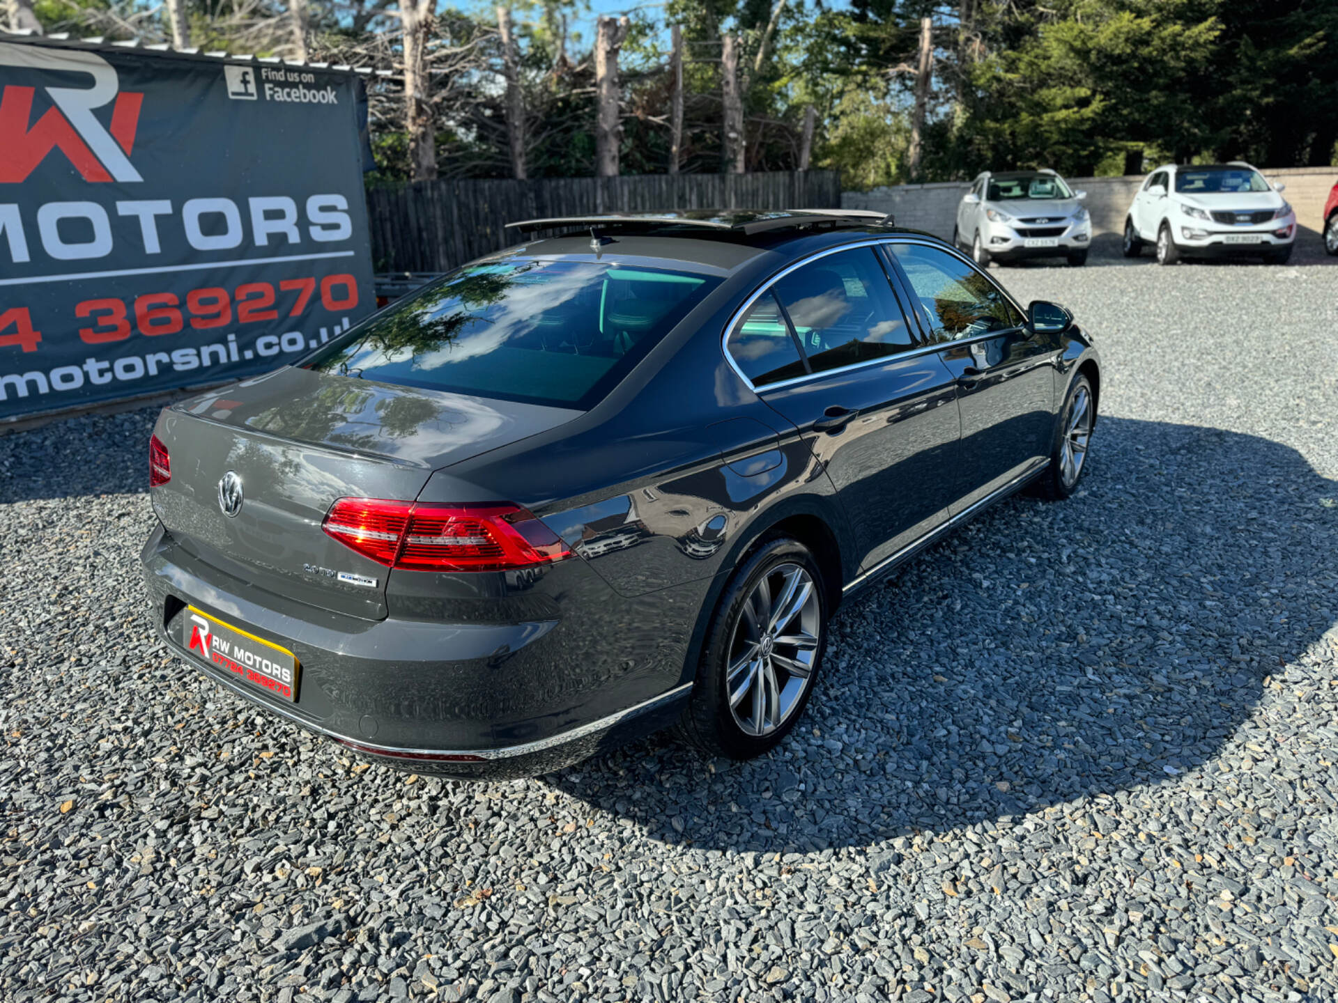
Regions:
<instances>
[{"instance_id":1,"label":"dark shadow cast on gravel to the right of the grey saloon","mask_svg":"<svg viewBox=\"0 0 1338 1003\"><path fill-rule=\"evenodd\" d=\"M666 843L895 863L896 836L1212 769L1338 617L1335 499L1267 439L1103 419L1076 497L1009 500L838 612L769 757L657 736L541 782Z\"/></svg>"}]
</instances>

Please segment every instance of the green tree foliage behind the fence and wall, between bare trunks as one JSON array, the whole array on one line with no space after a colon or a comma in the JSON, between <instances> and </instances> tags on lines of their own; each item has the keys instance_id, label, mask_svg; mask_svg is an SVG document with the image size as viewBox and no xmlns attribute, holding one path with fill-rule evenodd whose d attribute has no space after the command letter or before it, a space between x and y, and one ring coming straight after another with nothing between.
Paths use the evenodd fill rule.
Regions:
<instances>
[{"instance_id":1,"label":"green tree foliage behind the fence and wall, between bare trunks","mask_svg":"<svg viewBox=\"0 0 1338 1003\"><path fill-rule=\"evenodd\" d=\"M149 0L35 0L48 31L158 31ZM186 0L193 43L282 51L280 0ZM448 0L443 0L448 3ZM767 58L755 58L775 0L668 0L638 7L621 56L628 174L670 156L668 25L686 40L685 171L721 159L723 32L741 43L749 170L796 166L807 107L812 164L846 187L906 181L919 19L934 21L933 88L921 178L1048 166L1072 175L1141 171L1176 160L1329 164L1338 152L1338 3L1334 0L787 0ZM395 82L400 43L389 0L313 3L313 59L389 70L372 82L375 179L408 177ZM520 49L530 177L594 169L590 0L512 7ZM136 20L138 19L138 20ZM119 25L119 27L118 27ZM119 35L118 35L119 32ZM153 39L150 39L153 40ZM500 45L491 4L438 11L431 47L468 49L435 64L438 163L444 177L508 177Z\"/></svg>"}]
</instances>

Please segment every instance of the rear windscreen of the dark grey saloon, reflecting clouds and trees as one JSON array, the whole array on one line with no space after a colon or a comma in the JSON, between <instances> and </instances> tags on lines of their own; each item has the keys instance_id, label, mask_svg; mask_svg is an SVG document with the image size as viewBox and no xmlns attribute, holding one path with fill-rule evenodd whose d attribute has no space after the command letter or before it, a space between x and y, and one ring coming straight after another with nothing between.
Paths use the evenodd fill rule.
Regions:
<instances>
[{"instance_id":1,"label":"rear windscreen of the dark grey saloon, reflecting clouds and trees","mask_svg":"<svg viewBox=\"0 0 1338 1003\"><path fill-rule=\"evenodd\" d=\"M589 408L719 281L613 262L475 265L355 328L305 366Z\"/></svg>"}]
</instances>

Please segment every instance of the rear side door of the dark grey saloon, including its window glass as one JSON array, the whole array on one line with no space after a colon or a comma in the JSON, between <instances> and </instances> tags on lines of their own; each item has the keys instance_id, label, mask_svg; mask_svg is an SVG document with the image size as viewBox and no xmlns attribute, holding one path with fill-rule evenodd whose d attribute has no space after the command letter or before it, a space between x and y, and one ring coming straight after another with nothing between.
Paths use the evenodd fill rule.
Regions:
<instances>
[{"instance_id":1,"label":"rear side door of the dark grey saloon, including its window glass","mask_svg":"<svg viewBox=\"0 0 1338 1003\"><path fill-rule=\"evenodd\" d=\"M918 348L871 245L783 273L729 337L736 365L826 465L866 568L947 518L955 386Z\"/></svg>"}]
</instances>

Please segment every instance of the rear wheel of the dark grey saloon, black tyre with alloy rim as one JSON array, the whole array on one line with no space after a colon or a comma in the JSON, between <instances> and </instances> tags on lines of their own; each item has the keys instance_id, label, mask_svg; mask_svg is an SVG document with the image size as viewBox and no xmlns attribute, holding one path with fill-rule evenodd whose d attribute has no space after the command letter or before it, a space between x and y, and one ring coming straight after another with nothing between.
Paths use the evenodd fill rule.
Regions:
<instances>
[{"instance_id":1,"label":"rear wheel of the dark grey saloon, black tyre with alloy rim","mask_svg":"<svg viewBox=\"0 0 1338 1003\"><path fill-rule=\"evenodd\" d=\"M678 730L713 756L761 756L803 715L826 649L818 562L788 536L764 542L720 595Z\"/></svg>"}]
</instances>

